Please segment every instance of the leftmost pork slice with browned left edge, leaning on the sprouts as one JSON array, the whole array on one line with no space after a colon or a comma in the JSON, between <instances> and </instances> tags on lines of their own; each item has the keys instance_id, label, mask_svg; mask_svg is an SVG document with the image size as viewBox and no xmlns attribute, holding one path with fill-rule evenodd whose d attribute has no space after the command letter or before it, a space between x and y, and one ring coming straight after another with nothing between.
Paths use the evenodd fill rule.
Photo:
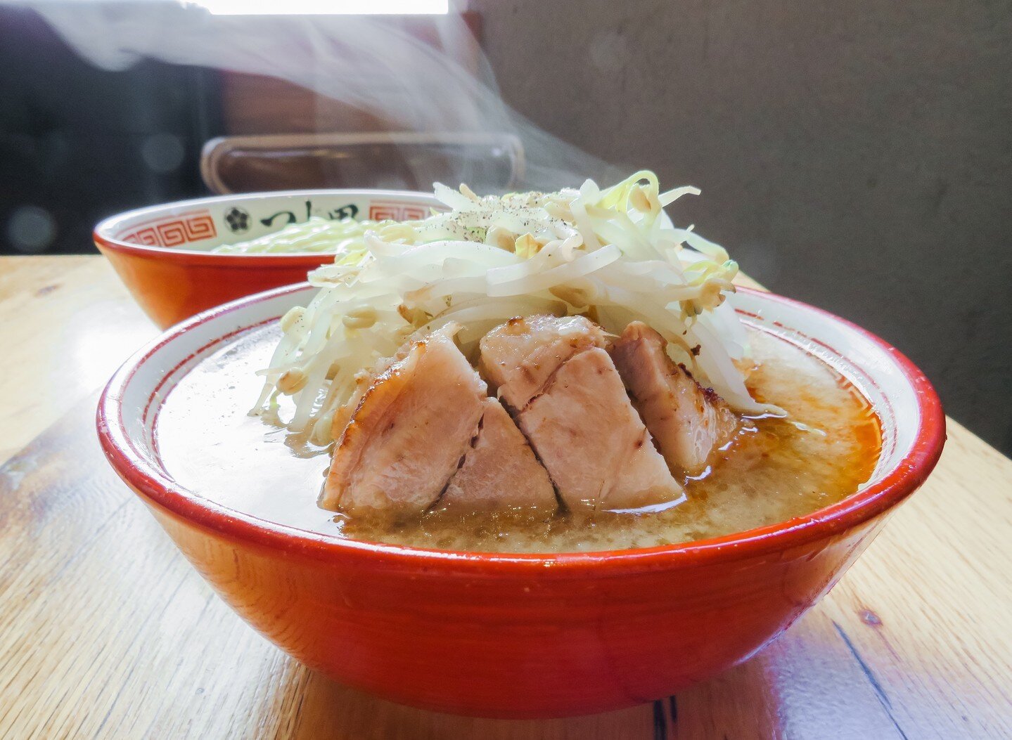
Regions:
<instances>
[{"instance_id":1,"label":"leftmost pork slice with browned left edge, leaning on the sprouts","mask_svg":"<svg viewBox=\"0 0 1012 740\"><path fill-rule=\"evenodd\" d=\"M338 439L320 505L396 519L428 508L456 472L487 387L452 329L411 343L372 379Z\"/></svg>"}]
</instances>

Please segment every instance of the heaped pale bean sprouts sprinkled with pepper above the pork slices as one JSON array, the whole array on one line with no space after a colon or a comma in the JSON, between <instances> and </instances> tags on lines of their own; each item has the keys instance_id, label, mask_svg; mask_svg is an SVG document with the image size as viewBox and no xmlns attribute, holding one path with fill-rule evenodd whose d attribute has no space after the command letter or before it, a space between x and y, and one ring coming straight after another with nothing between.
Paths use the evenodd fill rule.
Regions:
<instances>
[{"instance_id":1,"label":"heaped pale bean sprouts sprinkled with pepper above the pork slices","mask_svg":"<svg viewBox=\"0 0 1012 740\"><path fill-rule=\"evenodd\" d=\"M448 211L369 224L341 243L334 264L310 273L320 291L281 319L283 337L260 371L265 382L252 413L291 395L288 429L326 444L335 411L363 373L412 335L456 321L463 328L456 341L474 359L485 333L534 313L585 313L615 335L644 320L668 340L673 359L732 406L779 411L751 397L735 362L748 353L725 302L738 265L692 226L662 218L664 205L697 189L662 193L657 176L643 171L603 190L591 180L556 193L434 190Z\"/></svg>"}]
</instances>

